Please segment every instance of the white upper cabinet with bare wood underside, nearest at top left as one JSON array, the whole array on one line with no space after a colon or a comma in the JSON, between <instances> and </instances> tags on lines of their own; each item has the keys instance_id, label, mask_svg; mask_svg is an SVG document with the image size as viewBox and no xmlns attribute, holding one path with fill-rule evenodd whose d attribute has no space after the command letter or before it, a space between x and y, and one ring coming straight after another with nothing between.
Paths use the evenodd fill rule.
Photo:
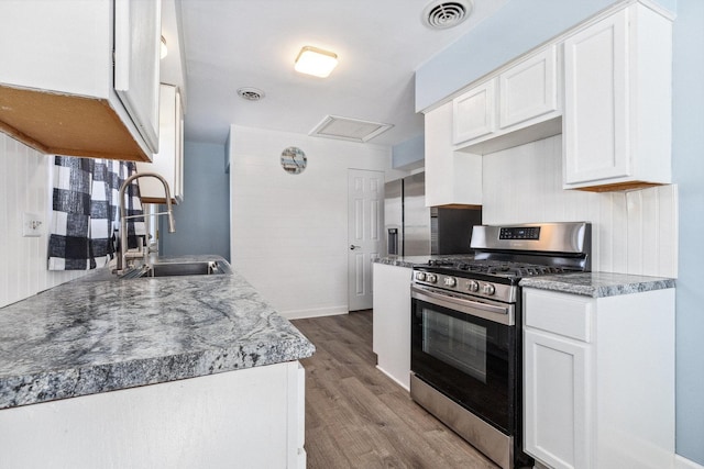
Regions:
<instances>
[{"instance_id":1,"label":"white upper cabinet with bare wood underside, nearest at top left","mask_svg":"<svg viewBox=\"0 0 704 469\"><path fill-rule=\"evenodd\" d=\"M0 130L46 154L151 160L160 0L2 1L0 18Z\"/></svg>"}]
</instances>

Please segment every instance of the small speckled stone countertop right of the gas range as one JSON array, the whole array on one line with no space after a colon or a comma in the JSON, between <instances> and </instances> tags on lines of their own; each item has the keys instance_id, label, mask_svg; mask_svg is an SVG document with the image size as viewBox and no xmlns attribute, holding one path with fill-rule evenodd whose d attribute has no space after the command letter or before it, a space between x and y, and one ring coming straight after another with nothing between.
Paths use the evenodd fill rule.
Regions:
<instances>
[{"instance_id":1,"label":"small speckled stone countertop right of the gas range","mask_svg":"<svg viewBox=\"0 0 704 469\"><path fill-rule=\"evenodd\" d=\"M520 281L520 286L604 298L674 288L674 280L628 273L583 272L525 278Z\"/></svg>"}]
</instances>

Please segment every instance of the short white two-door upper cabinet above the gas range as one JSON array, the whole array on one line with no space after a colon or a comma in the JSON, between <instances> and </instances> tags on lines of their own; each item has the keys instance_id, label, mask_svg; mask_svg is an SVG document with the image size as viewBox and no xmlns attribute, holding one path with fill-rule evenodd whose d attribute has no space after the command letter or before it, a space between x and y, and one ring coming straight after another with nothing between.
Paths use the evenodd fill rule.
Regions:
<instances>
[{"instance_id":1,"label":"short white two-door upper cabinet above the gas range","mask_svg":"<svg viewBox=\"0 0 704 469\"><path fill-rule=\"evenodd\" d=\"M455 149L487 154L559 134L558 65L548 45L453 99Z\"/></svg>"}]
</instances>

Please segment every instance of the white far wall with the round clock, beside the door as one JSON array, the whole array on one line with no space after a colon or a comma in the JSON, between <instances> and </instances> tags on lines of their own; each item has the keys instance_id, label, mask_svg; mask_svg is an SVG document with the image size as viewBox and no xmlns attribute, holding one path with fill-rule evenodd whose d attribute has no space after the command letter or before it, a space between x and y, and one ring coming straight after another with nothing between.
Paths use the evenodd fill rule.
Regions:
<instances>
[{"instance_id":1,"label":"white far wall with the round clock, beside the door","mask_svg":"<svg viewBox=\"0 0 704 469\"><path fill-rule=\"evenodd\" d=\"M286 317L348 312L348 168L391 170L389 147L233 125L232 265ZM289 175L284 148L308 167Z\"/></svg>"}]
</instances>

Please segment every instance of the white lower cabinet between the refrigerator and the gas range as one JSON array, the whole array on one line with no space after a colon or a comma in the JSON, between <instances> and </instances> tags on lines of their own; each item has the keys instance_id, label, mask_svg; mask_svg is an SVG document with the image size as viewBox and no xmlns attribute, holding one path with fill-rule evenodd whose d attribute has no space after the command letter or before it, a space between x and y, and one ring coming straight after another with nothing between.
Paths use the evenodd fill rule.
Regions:
<instances>
[{"instance_id":1,"label":"white lower cabinet between the refrigerator and the gas range","mask_svg":"<svg viewBox=\"0 0 704 469\"><path fill-rule=\"evenodd\" d=\"M374 330L372 349L377 368L410 389L410 281L409 267L374 264Z\"/></svg>"}]
</instances>

